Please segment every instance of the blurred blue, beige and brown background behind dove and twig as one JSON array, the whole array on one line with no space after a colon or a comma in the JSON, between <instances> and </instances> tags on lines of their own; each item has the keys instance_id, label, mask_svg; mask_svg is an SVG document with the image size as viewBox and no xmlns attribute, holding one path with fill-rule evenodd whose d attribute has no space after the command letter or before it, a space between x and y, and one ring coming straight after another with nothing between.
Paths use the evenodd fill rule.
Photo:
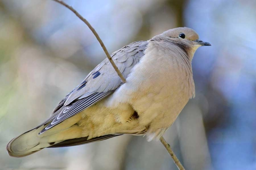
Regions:
<instances>
[{"instance_id":1,"label":"blurred blue, beige and brown background behind dove and twig","mask_svg":"<svg viewBox=\"0 0 256 170\"><path fill-rule=\"evenodd\" d=\"M256 1L66 0L110 53L170 28L211 47L192 61L196 97L164 137L188 170L256 169ZM158 141L122 135L11 158L6 144L49 117L105 55L89 28L51 0L0 0L0 170L176 170Z\"/></svg>"}]
</instances>

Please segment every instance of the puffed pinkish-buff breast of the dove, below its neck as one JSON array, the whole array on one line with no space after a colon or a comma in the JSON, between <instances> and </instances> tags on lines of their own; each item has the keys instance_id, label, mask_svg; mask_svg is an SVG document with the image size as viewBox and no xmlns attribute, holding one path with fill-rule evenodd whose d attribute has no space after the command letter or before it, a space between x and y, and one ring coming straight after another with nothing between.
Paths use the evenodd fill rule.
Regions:
<instances>
[{"instance_id":1,"label":"puffed pinkish-buff breast of the dove, below its neck","mask_svg":"<svg viewBox=\"0 0 256 170\"><path fill-rule=\"evenodd\" d=\"M104 100L105 106L131 105L138 112L139 126L149 126L149 133L159 129L164 133L195 94L191 61L176 48L167 42L149 41L127 82Z\"/></svg>"}]
</instances>

